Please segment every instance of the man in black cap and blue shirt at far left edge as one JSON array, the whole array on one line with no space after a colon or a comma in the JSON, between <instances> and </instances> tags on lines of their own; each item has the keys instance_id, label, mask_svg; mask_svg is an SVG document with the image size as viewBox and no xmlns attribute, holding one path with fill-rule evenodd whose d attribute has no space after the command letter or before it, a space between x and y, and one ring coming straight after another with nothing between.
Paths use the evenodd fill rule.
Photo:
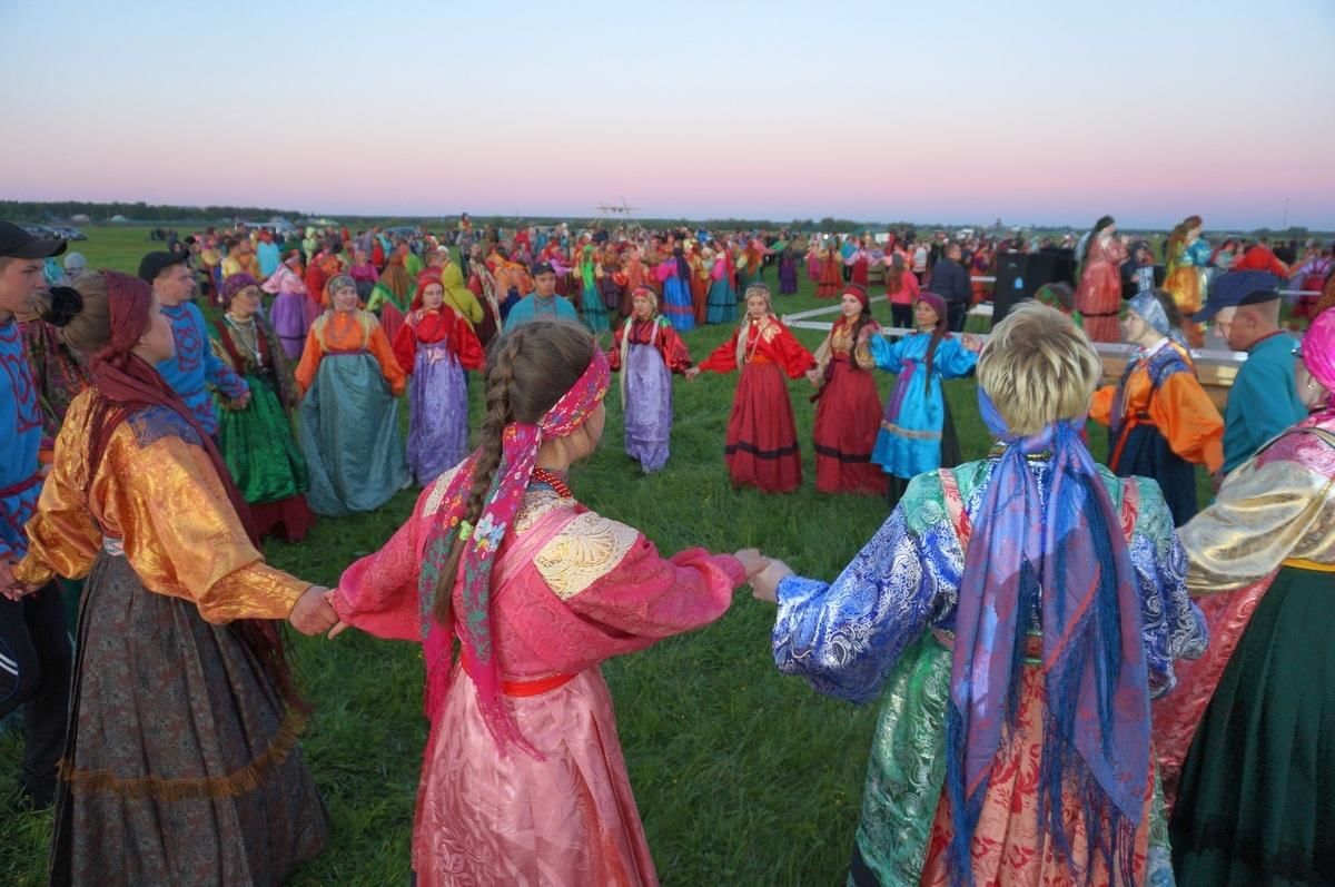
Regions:
<instances>
[{"instance_id":1,"label":"man in black cap and blue shirt at far left edge","mask_svg":"<svg viewBox=\"0 0 1335 887\"><path fill-rule=\"evenodd\" d=\"M11 564L28 550L24 524L41 493L43 414L15 315L45 289L45 259L64 240L39 240L0 222L0 717L23 705L20 791L49 807L65 739L71 655L64 604L55 584L15 598Z\"/></svg>"}]
</instances>

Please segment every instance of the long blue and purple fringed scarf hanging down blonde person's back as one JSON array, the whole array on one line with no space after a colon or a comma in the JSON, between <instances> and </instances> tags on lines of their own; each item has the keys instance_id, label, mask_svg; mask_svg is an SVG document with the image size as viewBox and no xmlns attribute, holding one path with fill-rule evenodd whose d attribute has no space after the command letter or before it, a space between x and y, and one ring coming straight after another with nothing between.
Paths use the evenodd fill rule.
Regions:
<instances>
[{"instance_id":1,"label":"long blue and purple fringed scarf hanging down blonde person's back","mask_svg":"<svg viewBox=\"0 0 1335 887\"><path fill-rule=\"evenodd\" d=\"M955 883L972 883L971 846L1005 727L1015 725L1025 629L1043 625L1045 711L1039 822L1069 859L1063 788L1081 806L1092 854L1131 872L1149 787L1149 684L1131 550L1080 419L1031 437L1009 431L979 387L1005 445L964 558L956 612L947 789ZM1028 457L1052 453L1047 502Z\"/></svg>"}]
</instances>

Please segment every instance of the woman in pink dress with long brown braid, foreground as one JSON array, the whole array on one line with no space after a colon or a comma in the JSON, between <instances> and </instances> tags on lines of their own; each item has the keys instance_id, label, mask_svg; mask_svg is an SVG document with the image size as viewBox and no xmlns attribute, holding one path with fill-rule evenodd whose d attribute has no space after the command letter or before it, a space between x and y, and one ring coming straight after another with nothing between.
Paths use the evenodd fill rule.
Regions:
<instances>
[{"instance_id":1,"label":"woman in pink dress with long brown braid, foreground","mask_svg":"<svg viewBox=\"0 0 1335 887\"><path fill-rule=\"evenodd\" d=\"M481 446L331 593L344 624L423 644L417 883L655 884L598 664L717 620L762 561L663 558L571 497L609 379L582 327L506 334L486 378Z\"/></svg>"}]
</instances>

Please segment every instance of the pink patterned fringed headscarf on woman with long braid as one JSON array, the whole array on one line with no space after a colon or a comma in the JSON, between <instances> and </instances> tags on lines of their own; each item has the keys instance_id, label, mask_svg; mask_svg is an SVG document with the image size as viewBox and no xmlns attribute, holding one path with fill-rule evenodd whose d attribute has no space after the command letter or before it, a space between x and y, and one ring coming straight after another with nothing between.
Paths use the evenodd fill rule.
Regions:
<instances>
[{"instance_id":1,"label":"pink patterned fringed headscarf on woman with long braid","mask_svg":"<svg viewBox=\"0 0 1335 887\"><path fill-rule=\"evenodd\" d=\"M451 625L442 625L433 617L435 588L441 568L450 557L454 537L465 540L459 580L463 582L463 613L451 621L462 631L463 659L473 683L478 688L478 703L483 720L497 744L515 743L534 757L541 755L519 733L518 724L501 699L501 672L495 660L495 636L491 627L491 566L497 552L510 529L510 521L523 502L538 461L542 441L573 434L598 409L607 394L611 373L607 358L594 347L593 359L575 383L547 410L537 425L511 422L502 433L502 456L495 480L482 505L478 525L463 521L467 492L473 485L477 453L470 456L455 473L446 490L445 506L427 534L422 552L422 574L418 592L422 598L425 651L427 667L427 716L433 720L445 701L451 665ZM453 593L453 584L450 585Z\"/></svg>"}]
</instances>

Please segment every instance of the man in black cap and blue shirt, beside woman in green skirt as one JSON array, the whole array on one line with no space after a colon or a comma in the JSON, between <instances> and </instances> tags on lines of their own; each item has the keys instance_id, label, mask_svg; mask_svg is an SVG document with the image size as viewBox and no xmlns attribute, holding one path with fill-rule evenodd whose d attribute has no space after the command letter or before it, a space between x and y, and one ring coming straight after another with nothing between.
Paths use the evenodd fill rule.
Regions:
<instances>
[{"instance_id":1,"label":"man in black cap and blue shirt, beside woman in green skirt","mask_svg":"<svg viewBox=\"0 0 1335 887\"><path fill-rule=\"evenodd\" d=\"M206 383L235 401L238 407L250 401L250 386L208 346L204 315L190 301L195 293L195 275L186 259L184 252L150 252L139 263L139 277L154 287L154 295L176 337L176 355L159 363L158 371L195 414L199 425L216 434L218 417L214 415L214 398Z\"/></svg>"}]
</instances>

